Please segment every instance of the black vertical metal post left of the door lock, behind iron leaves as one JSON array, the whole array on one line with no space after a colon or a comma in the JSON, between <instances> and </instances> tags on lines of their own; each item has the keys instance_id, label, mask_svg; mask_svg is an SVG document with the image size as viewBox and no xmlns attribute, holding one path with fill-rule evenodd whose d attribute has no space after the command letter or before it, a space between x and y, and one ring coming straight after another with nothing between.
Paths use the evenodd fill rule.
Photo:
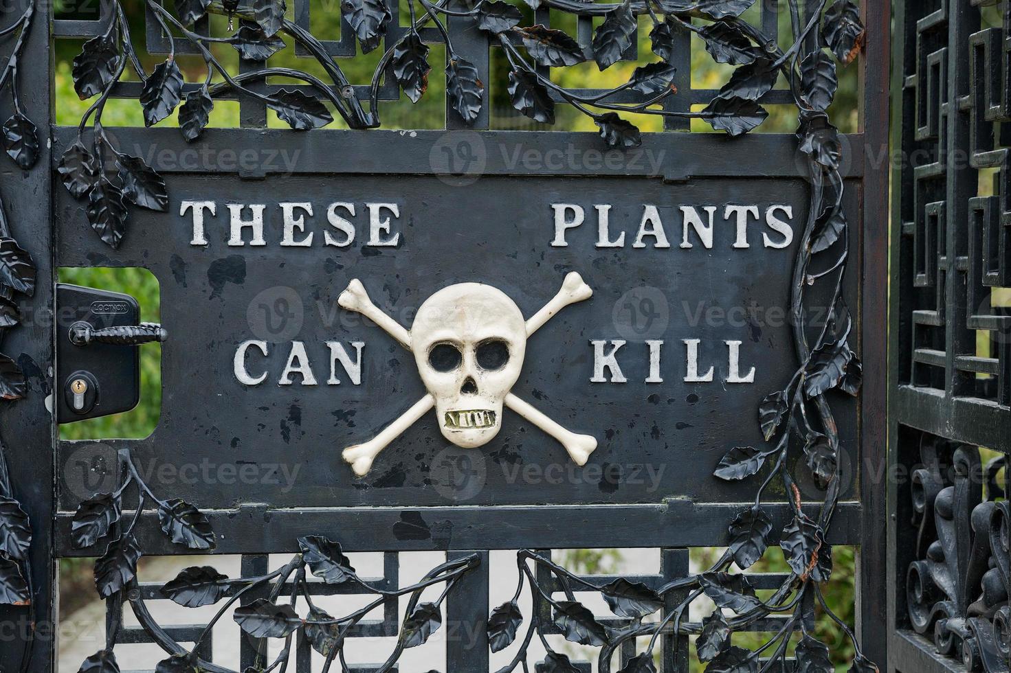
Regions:
<instances>
[{"instance_id":1,"label":"black vertical metal post left of the door lock, behind iron leaves","mask_svg":"<svg viewBox=\"0 0 1011 673\"><path fill-rule=\"evenodd\" d=\"M20 16L32 2L11 2L5 12L4 25ZM22 322L10 329L3 342L3 352L26 371L28 394L23 400L0 402L0 441L10 469L13 495L31 519L32 604L0 608L0 626L5 634L12 636L12 640L0 647L0 670L20 671L30 659L27 670L40 673L56 670L57 563L53 551L56 423L45 409L45 396L53 390L56 276L50 172L53 3L34 1L34 5L31 30L17 72L17 85L23 112L38 129L38 163L30 171L22 171L5 157L0 170L0 195L11 234L31 255L36 267L34 296L21 301ZM12 41L7 42L8 50L11 44ZM5 97L0 109L4 118L12 113L8 98Z\"/></svg>"}]
</instances>

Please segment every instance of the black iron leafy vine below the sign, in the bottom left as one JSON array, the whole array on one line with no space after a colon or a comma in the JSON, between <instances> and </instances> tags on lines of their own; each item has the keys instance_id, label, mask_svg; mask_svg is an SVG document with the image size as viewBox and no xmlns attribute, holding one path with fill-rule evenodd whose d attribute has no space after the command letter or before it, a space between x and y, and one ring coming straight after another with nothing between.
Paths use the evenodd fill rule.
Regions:
<instances>
[{"instance_id":1,"label":"black iron leafy vine below the sign, in the bottom left","mask_svg":"<svg viewBox=\"0 0 1011 673\"><path fill-rule=\"evenodd\" d=\"M136 537L136 526L150 500L158 508L163 533L175 544L191 550L213 551L214 532L207 516L188 502L179 499L163 500L145 483L130 460L129 452L119 452L124 477L111 493L94 495L78 507L72 523L73 544L78 549L88 549L108 540L105 553L95 562L95 586L99 595L110 606L112 623L106 632L105 648L88 657L81 665L81 673L118 673L114 645L121 628L124 602L128 602L142 627L169 657L156 667L157 673L232 673L228 669L204 661L198 656L200 646L222 616L242 598L258 590L266 590L267 597L259 597L240 605L233 618L240 628L254 638L283 638L284 648L272 663L258 661L250 671L270 673L286 670L292 652L292 641L297 632L326 657L324 673L337 661L347 672L344 646L349 632L367 615L387 602L409 596L396 645L380 671L389 671L405 649L424 645L442 626L442 604L457 580L479 563L471 555L444 563L410 586L396 590L374 587L361 579L344 555L339 543L320 536L298 539L299 553L283 567L260 577L229 579L209 566L183 570L162 587L162 595L184 607L202 607L223 600L216 614L204 627L191 649L186 649L163 630L145 603L136 580L136 567L143 551ZM136 504L129 522L122 531L122 498L130 486L136 495ZM375 598L365 606L341 617L334 617L312 602L306 585L308 573L329 584L347 582L359 585ZM425 589L438 584L445 587L434 602L422 602ZM308 603L308 615L302 618L295 611L299 596ZM287 600L288 602L279 602Z\"/></svg>"}]
</instances>

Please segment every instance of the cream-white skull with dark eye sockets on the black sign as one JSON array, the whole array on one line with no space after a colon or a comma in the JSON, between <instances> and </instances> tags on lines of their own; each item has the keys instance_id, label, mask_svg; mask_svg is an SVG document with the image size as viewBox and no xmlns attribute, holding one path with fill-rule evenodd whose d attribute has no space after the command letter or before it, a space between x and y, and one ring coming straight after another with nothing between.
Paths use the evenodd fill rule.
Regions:
<instances>
[{"instance_id":1,"label":"cream-white skull with dark eye sockets on the black sign","mask_svg":"<svg viewBox=\"0 0 1011 673\"><path fill-rule=\"evenodd\" d=\"M479 283L443 288L418 310L410 347L436 399L443 436L464 449L494 439L527 352L526 321L516 302Z\"/></svg>"}]
</instances>

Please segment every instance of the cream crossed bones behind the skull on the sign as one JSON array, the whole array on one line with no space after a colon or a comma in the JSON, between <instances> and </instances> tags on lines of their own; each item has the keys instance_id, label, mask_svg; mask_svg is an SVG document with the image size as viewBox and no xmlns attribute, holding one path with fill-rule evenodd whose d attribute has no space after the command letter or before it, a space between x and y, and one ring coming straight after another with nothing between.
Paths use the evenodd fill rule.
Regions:
<instances>
[{"instance_id":1,"label":"cream crossed bones behind the skull on the sign","mask_svg":"<svg viewBox=\"0 0 1011 673\"><path fill-rule=\"evenodd\" d=\"M544 308L527 320L527 338L529 339L535 331L544 326L544 323L554 317L561 309L569 304L589 299L592 294L593 290L583 282L579 274L575 272L568 274L558 294L545 304ZM337 303L342 308L361 313L369 318L399 342L403 348L410 350L410 332L372 302L365 286L357 278L348 284L348 289L341 293ZM505 406L561 443L576 465L585 465L589 455L596 450L595 438L588 435L576 435L562 427L512 392L505 396L504 402ZM344 460L351 464L356 475L365 476L372 469L372 462L376 456L433 407L435 407L435 398L429 393L418 400L403 415L384 427L371 441L345 449L342 453Z\"/></svg>"}]
</instances>

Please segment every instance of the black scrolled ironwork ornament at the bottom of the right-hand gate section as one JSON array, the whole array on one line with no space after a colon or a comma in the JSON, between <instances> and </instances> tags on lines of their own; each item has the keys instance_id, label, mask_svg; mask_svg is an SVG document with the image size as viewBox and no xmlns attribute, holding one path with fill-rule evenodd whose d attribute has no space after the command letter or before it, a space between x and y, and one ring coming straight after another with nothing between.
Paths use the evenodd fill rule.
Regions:
<instances>
[{"instance_id":1,"label":"black scrolled ironwork ornament at the bottom of the right-hand gate section","mask_svg":"<svg viewBox=\"0 0 1011 673\"><path fill-rule=\"evenodd\" d=\"M1011 505L997 477L1011 459L984 464L976 447L925 435L920 460L912 481L917 560L906 577L910 623L967 670L1007 673Z\"/></svg>"}]
</instances>

